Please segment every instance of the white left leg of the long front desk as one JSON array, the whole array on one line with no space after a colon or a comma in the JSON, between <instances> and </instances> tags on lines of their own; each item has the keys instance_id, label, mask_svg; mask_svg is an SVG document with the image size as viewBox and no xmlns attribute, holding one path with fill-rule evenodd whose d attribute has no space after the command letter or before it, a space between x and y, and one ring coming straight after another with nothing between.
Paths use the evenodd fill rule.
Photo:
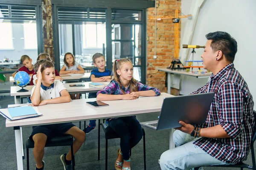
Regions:
<instances>
[{"instance_id":1,"label":"white left leg of the long front desk","mask_svg":"<svg viewBox=\"0 0 256 170\"><path fill-rule=\"evenodd\" d=\"M23 170L22 145L21 145L22 138L20 133L20 127L14 127L14 131L15 131L17 170Z\"/></svg>"}]
</instances>

